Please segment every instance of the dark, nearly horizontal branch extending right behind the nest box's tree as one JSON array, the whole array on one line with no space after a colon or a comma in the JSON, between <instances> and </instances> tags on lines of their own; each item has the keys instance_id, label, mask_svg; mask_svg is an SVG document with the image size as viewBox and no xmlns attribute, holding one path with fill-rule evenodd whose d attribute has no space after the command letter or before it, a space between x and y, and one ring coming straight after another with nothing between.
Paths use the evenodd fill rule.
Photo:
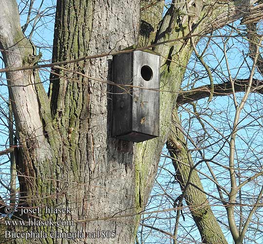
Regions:
<instances>
[{"instance_id":1,"label":"dark, nearly horizontal branch extending right behind the nest box's tree","mask_svg":"<svg viewBox=\"0 0 263 244\"><path fill-rule=\"evenodd\" d=\"M248 79L235 80L235 92L244 92L247 88L248 82ZM251 92L263 94L263 81L253 79ZM178 95L177 103L183 105L185 103L195 102L209 97L210 94L211 85L203 85L189 91L181 91L181 93ZM223 97L230 94L233 94L230 81L214 85L214 97Z\"/></svg>"}]
</instances>

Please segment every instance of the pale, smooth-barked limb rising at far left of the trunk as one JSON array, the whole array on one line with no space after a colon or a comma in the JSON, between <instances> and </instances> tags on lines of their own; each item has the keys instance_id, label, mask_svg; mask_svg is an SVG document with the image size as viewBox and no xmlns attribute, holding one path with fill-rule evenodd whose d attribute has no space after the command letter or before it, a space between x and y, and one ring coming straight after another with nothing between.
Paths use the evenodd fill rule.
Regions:
<instances>
[{"instance_id":1,"label":"pale, smooth-barked limb rising at far left of the trunk","mask_svg":"<svg viewBox=\"0 0 263 244\"><path fill-rule=\"evenodd\" d=\"M34 46L22 31L16 0L0 0L0 48L6 67L20 67L34 63ZM43 130L40 110L47 102L44 88L36 84L34 71L6 72L10 99L15 115L16 125L26 137L36 137L42 143ZM38 95L41 94L41 98ZM44 143L42 143L44 144Z\"/></svg>"}]
</instances>

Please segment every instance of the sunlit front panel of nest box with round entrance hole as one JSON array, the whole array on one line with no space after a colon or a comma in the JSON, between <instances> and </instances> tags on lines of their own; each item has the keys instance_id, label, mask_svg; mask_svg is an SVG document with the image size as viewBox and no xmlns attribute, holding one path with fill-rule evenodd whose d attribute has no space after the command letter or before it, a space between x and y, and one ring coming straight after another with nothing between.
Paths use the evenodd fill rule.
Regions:
<instances>
[{"instance_id":1,"label":"sunlit front panel of nest box with round entrance hole","mask_svg":"<svg viewBox=\"0 0 263 244\"><path fill-rule=\"evenodd\" d=\"M133 88L132 130L144 133L146 140L159 136L159 69L160 56L142 51L133 53L133 85L142 88Z\"/></svg>"}]
</instances>

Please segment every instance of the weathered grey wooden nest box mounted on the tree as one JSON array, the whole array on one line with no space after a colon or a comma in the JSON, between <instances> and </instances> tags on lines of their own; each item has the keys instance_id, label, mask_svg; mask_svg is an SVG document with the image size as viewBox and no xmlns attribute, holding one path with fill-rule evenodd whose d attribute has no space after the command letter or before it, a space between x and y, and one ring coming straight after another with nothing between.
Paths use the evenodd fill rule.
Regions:
<instances>
[{"instance_id":1,"label":"weathered grey wooden nest box mounted on the tree","mask_svg":"<svg viewBox=\"0 0 263 244\"><path fill-rule=\"evenodd\" d=\"M142 51L113 56L112 136L143 142L159 136L160 56Z\"/></svg>"}]
</instances>

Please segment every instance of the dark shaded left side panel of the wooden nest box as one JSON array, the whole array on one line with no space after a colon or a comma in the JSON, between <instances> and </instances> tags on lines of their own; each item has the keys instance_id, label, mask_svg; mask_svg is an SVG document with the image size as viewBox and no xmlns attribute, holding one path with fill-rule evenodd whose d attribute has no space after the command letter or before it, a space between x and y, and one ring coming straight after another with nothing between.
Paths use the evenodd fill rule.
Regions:
<instances>
[{"instance_id":1,"label":"dark shaded left side panel of the wooden nest box","mask_svg":"<svg viewBox=\"0 0 263 244\"><path fill-rule=\"evenodd\" d=\"M113 56L113 121L112 136L131 132L132 128L132 55Z\"/></svg>"}]
</instances>

